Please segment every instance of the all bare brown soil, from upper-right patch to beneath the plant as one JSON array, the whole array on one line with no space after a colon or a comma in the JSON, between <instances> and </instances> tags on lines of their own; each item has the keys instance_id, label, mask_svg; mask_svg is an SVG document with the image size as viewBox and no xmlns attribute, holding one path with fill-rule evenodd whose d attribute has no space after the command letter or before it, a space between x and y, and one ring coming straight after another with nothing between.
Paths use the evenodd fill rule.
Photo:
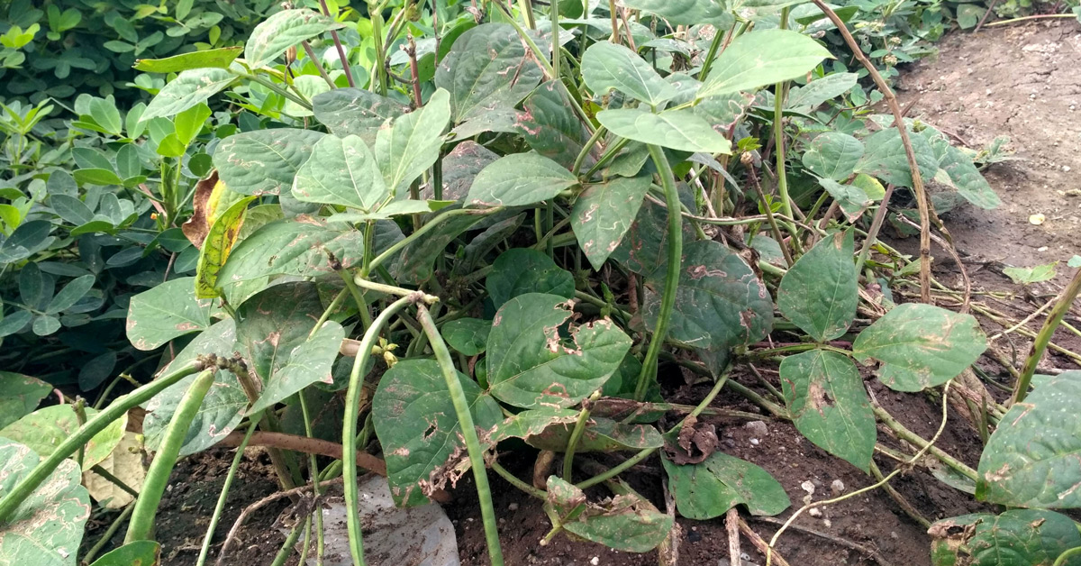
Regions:
<instances>
[{"instance_id":1,"label":"all bare brown soil, from upper-right patch to beneath the plant","mask_svg":"<svg viewBox=\"0 0 1081 566\"><path fill-rule=\"evenodd\" d=\"M1073 114L1075 110L1081 113L1081 79L1075 68L1075 62L1081 55L1081 28L1072 21L989 28L975 35L952 34L939 47L940 54L936 58L920 62L903 71L898 95L903 105L915 101L910 116L921 117L972 148L983 147L997 135L1011 137L1019 159L991 166L985 171L988 181L1002 197L1003 206L993 211L961 207L946 215L945 220L965 258L974 290L1013 293L1001 302L990 298L986 302L1020 318L1032 311L1033 304L1042 304L1057 293L1067 277L1065 261L1075 253L1081 253L1081 195L1069 196L1067 193L1081 188L1077 176L1081 171L1081 160L1077 157L1081 155L1081 120L1077 117L1079 115ZM1045 214L1047 221L1043 225L1028 223L1029 214L1037 212ZM906 251L915 251L911 239L900 241L898 246ZM956 266L950 264L942 250L936 250L935 255L940 258L936 264L936 276L956 285ZM1038 284L1027 292L1001 273L1004 265L1032 266L1056 260L1063 262L1058 278ZM984 299L977 297L976 300ZM1068 319L1079 321L1073 315ZM1041 321L1042 317L1038 317L1028 328L1038 330ZM989 333L1001 329L986 317L980 318L980 323ZM1081 351L1078 337L1060 331L1056 341L1073 351ZM1012 352L1016 348L1016 356L1020 359L1028 346L1029 342L1023 338L1013 340L1012 347L997 344L1007 357L1014 355ZM1003 373L1002 368L993 363L982 363L980 366L992 374ZM1077 367L1062 356L1050 356L1045 366L1059 369ZM776 373L770 372L769 368L764 370L766 378L776 384ZM753 378L746 374L736 374L733 379L752 389L760 387ZM665 381L666 398L677 403L697 403L708 390L705 384L685 384L678 373L669 373ZM925 438L934 434L940 416L938 402L926 395L891 392L873 380L869 383L879 403L905 425ZM728 390L719 395L713 406L761 412ZM800 485L803 482L810 481L816 486L816 499L829 497L835 479L840 479L846 490L873 483L870 476L813 446L790 423L763 416L769 434L761 436L745 426L746 420L706 420L718 425L725 452L761 465L782 483L795 505L780 515L782 519L802 504L805 492ZM975 466L980 450L978 435L952 412L950 422L955 425L947 429L938 445ZM751 443L752 437L759 440L757 445ZM885 444L898 447L881 427L879 437ZM214 449L178 464L173 474L172 488L166 492L159 512L159 540L164 547L164 564L195 563L231 455L229 449ZM212 560L216 558L221 540L241 509L277 489L265 453L256 450L253 456L254 459L245 460L241 475L233 484L229 504L217 529L215 540L218 544L214 547ZM501 461L519 477L529 478L533 457L534 452L520 451L504 455ZM601 461L611 464L617 460ZM876 462L883 473L894 468L892 460L881 456L876 457ZM664 509L659 489L662 475L660 464L653 458L625 474L625 477L654 504ZM627 554L599 544L574 542L562 535L550 544L540 547L539 540L548 532L550 524L539 502L495 474L489 476L506 564L657 564L654 553ZM971 496L945 486L922 470L906 472L892 485L932 521L984 509ZM444 508L456 527L462 563L466 566L488 564L471 479L467 476L452 493L455 501ZM240 543L233 547L235 554L227 561L228 564L269 564L283 541L272 525L288 508L288 501L283 501L255 514L241 531ZM95 517L93 521L96 523L88 541L96 541L114 516ZM704 522L679 518L678 523L682 527L679 537L680 565L716 566L721 558L726 558L728 539L721 518ZM766 539L776 529L775 525L757 518L749 518L749 523ZM930 565L930 541L924 529L881 489L826 508L822 517L804 514L796 525L858 543L879 554L878 557L867 556L836 541L789 529L782 538L778 551L792 566ZM114 542L121 542L122 537L121 531ZM752 563L764 563L763 556L755 552L746 537L743 538L743 550L751 556ZM286 564L296 564L296 556Z\"/></svg>"}]
</instances>

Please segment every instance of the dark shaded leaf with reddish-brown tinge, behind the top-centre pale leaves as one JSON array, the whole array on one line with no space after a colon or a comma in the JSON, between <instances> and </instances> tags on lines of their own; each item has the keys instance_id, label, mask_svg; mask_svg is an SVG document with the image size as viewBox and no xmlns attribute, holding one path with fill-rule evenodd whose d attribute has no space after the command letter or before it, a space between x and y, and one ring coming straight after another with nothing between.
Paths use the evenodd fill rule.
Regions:
<instances>
[{"instance_id":1,"label":"dark shaded leaf with reddish-brown tinge, behind the top-centre pale leaves","mask_svg":"<svg viewBox=\"0 0 1081 566\"><path fill-rule=\"evenodd\" d=\"M571 169L589 140L589 132L571 110L566 87L558 81L545 82L525 98L524 106L525 110L517 117L516 127L525 143L537 154ZM455 150L458 147L462 146L458 145ZM589 158L587 161L592 162ZM446 183L445 161L443 182Z\"/></svg>"}]
</instances>

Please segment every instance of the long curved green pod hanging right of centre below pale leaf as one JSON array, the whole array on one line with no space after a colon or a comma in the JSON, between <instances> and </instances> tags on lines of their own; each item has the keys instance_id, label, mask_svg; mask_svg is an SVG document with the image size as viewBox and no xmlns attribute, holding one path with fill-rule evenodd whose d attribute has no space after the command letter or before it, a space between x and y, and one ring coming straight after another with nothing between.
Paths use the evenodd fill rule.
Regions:
<instances>
[{"instance_id":1,"label":"long curved green pod hanging right of centre below pale leaf","mask_svg":"<svg viewBox=\"0 0 1081 566\"><path fill-rule=\"evenodd\" d=\"M638 374L638 384L635 386L635 400L642 400L645 397L649 377L656 374L657 356L660 355L660 347L668 335L668 319L671 318L672 308L676 306L676 292L679 290L679 276L683 259L683 218L680 215L676 177L672 175L672 168L660 147L653 144L646 147L653 163L657 166L660 185L665 189L665 203L668 206L668 272L665 275L660 310L657 312L657 325L653 330L650 347L645 352L645 360L642 361L642 371Z\"/></svg>"}]
</instances>

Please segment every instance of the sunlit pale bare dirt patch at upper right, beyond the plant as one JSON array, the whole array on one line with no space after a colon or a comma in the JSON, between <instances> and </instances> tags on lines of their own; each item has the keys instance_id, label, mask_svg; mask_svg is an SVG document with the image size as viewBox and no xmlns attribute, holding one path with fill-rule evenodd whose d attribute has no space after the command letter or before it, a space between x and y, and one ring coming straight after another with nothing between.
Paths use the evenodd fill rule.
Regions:
<instances>
[{"instance_id":1,"label":"sunlit pale bare dirt patch at upper right, beyond the plant","mask_svg":"<svg viewBox=\"0 0 1081 566\"><path fill-rule=\"evenodd\" d=\"M960 207L945 219L958 249L1019 267L1065 266L1081 253L1081 26L984 28L949 35L938 48L897 81L902 105L915 103L909 116L976 150L1006 135L1016 158L984 171L1001 207ZM1030 224L1032 214L1046 220Z\"/></svg>"}]
</instances>

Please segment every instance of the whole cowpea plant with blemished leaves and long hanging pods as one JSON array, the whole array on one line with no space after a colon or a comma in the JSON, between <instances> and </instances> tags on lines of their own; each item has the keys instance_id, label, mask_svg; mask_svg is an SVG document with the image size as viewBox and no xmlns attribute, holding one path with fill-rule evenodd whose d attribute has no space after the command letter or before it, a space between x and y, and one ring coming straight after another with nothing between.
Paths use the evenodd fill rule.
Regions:
<instances>
[{"instance_id":1,"label":"whole cowpea plant with blemished leaves and long hanging pods","mask_svg":"<svg viewBox=\"0 0 1081 566\"><path fill-rule=\"evenodd\" d=\"M659 456L684 517L790 505L765 470L718 449L705 418L726 414L709 407L725 385L865 472L877 473L878 419L923 447L913 462L940 460L943 482L959 489L1077 506L1076 466L1060 473L1077 457L1069 379L1040 382L1004 416L985 408L1002 426L978 473L920 445L864 385L873 372L898 392L948 387L987 347L969 314L895 304L889 284L907 285L918 264L877 237L889 195L922 198L922 179L936 182L935 203L997 206L972 160L926 124L851 104L852 92L866 100L857 75L801 32L843 25L825 4L625 4L639 18L558 1L546 13L529 2L440 8L439 25L405 17L412 5L389 24L373 10L366 69L349 65L353 49L337 35L351 22L297 8L258 25L242 53L139 62L176 74L142 120L228 101L243 128L216 144L216 176L192 197L183 232L199 249L195 275L131 301L134 347L175 347L163 377L77 418L30 412L48 389L3 376L23 392L4 403L25 417L0 430L11 452L0 557L29 560L32 547L75 563L90 512L79 465L117 457L134 406L147 411L145 448L159 451L154 489L149 503L139 495L129 544L103 565L157 552L142 539L168 463L238 430L242 446L258 430L382 452L377 464L321 465L291 451L303 442L269 445L283 488L313 482L319 493L344 476L355 564L364 564L358 460L386 474L402 506L471 472L492 564L503 557L489 471L544 501L549 539L565 531L670 556L673 515L619 478L646 458ZM227 98L212 100L219 92ZM903 226L910 213L889 218ZM778 359L773 400L730 379L736 366ZM694 407L665 403L662 363L711 390ZM50 410L67 423L55 449L35 430ZM1052 416L1063 434L1033 460L1030 440ZM522 440L540 450L533 484L499 463ZM596 452L627 457L609 469ZM612 497L587 497L601 484ZM1081 547L1070 519L1049 511L950 521L936 531L942 564L987 548L1028 560ZM1016 522L1056 530L1000 535ZM298 522L280 561L302 530L302 556L312 538L322 549L321 527L320 514Z\"/></svg>"}]
</instances>

